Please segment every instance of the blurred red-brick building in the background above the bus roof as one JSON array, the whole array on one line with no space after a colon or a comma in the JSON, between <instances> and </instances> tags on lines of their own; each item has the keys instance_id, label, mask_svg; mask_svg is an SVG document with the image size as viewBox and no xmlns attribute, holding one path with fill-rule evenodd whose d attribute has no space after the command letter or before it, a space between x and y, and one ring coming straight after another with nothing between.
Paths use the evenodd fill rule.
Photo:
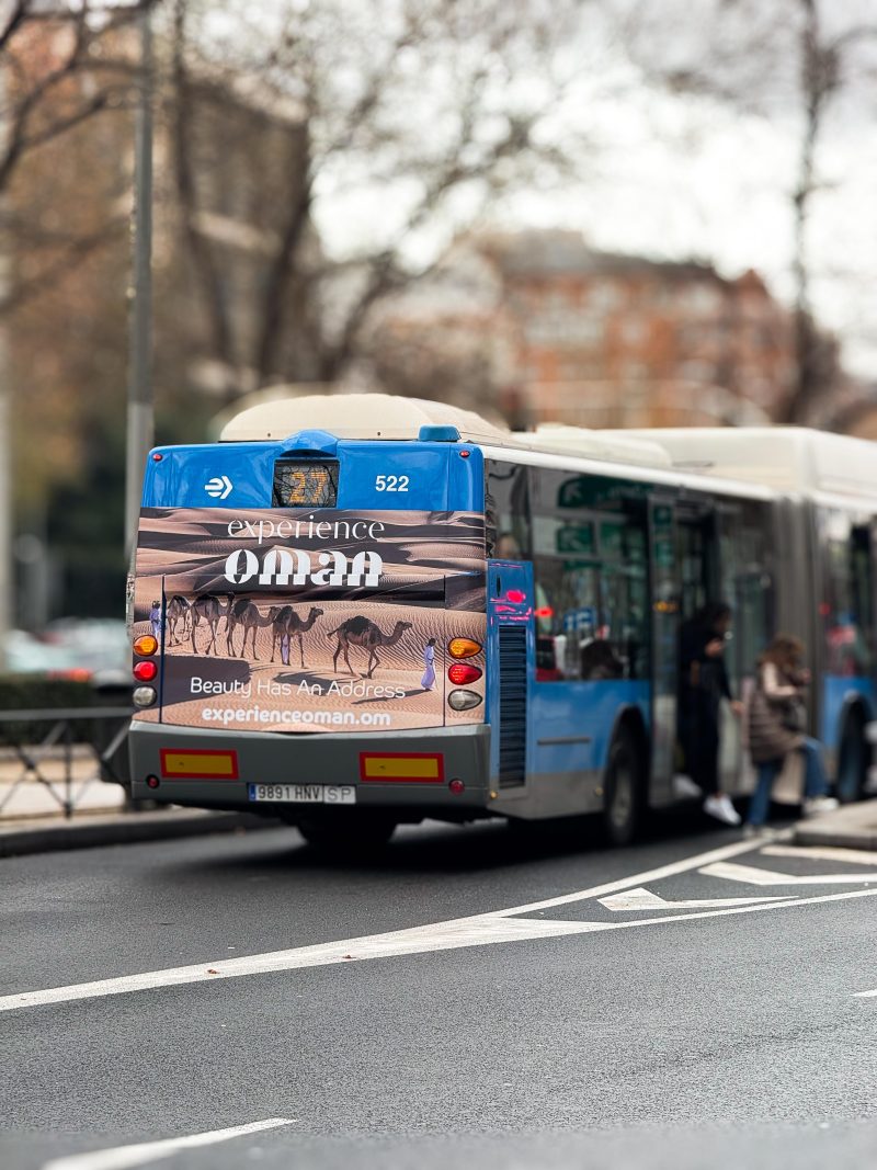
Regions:
<instances>
[{"instance_id":1,"label":"blurred red-brick building in the background above the bus roof","mask_svg":"<svg viewBox=\"0 0 877 1170\"><path fill-rule=\"evenodd\" d=\"M820 336L827 397L848 379ZM741 426L794 391L794 321L754 271L588 248L573 232L460 241L370 338L396 393L478 398L515 425Z\"/></svg>"}]
</instances>

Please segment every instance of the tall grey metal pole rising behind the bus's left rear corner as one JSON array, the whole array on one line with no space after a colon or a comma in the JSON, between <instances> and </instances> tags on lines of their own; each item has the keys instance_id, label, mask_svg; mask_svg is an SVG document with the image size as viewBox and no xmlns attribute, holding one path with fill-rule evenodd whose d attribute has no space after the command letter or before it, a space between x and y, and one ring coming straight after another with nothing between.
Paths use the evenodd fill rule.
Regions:
<instances>
[{"instance_id":1,"label":"tall grey metal pole rising behind the bus's left rear corner","mask_svg":"<svg viewBox=\"0 0 877 1170\"><path fill-rule=\"evenodd\" d=\"M154 441L152 400L152 20L138 16L140 78L134 122L133 281L129 318L127 443L125 455L125 549L137 541L143 469Z\"/></svg>"}]
</instances>

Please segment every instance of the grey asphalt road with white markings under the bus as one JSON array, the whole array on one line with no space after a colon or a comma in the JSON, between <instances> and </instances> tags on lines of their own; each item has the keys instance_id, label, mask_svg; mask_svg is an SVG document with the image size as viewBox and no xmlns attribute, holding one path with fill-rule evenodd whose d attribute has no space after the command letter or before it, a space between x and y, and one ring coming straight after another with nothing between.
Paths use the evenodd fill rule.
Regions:
<instances>
[{"instance_id":1,"label":"grey asphalt road with white markings under the bus","mask_svg":"<svg viewBox=\"0 0 877 1170\"><path fill-rule=\"evenodd\" d=\"M424 825L0 874L7 1170L877 1157L877 854Z\"/></svg>"}]
</instances>

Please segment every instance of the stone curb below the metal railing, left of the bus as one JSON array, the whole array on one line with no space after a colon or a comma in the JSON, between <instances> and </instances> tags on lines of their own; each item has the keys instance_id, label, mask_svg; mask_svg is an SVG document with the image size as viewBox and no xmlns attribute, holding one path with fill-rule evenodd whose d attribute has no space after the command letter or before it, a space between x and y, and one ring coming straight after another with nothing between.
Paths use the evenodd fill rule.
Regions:
<instances>
[{"instance_id":1,"label":"stone curb below the metal railing, left of the bus","mask_svg":"<svg viewBox=\"0 0 877 1170\"><path fill-rule=\"evenodd\" d=\"M137 841L167 841L208 833L237 833L276 828L278 821L246 812L129 812L110 817L83 817L81 820L40 825L29 821L20 828L0 830L0 858L64 849L91 849L103 845Z\"/></svg>"}]
</instances>

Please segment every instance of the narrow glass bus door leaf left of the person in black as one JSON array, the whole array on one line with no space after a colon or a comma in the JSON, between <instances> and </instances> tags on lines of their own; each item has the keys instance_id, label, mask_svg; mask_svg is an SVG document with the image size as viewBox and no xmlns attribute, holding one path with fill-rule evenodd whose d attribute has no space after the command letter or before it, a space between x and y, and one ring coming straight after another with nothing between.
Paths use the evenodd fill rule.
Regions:
<instances>
[{"instance_id":1,"label":"narrow glass bus door leaf left of the person in black","mask_svg":"<svg viewBox=\"0 0 877 1170\"><path fill-rule=\"evenodd\" d=\"M651 608L651 784L649 803L672 799L679 658L676 517L669 500L649 501Z\"/></svg>"}]
</instances>

